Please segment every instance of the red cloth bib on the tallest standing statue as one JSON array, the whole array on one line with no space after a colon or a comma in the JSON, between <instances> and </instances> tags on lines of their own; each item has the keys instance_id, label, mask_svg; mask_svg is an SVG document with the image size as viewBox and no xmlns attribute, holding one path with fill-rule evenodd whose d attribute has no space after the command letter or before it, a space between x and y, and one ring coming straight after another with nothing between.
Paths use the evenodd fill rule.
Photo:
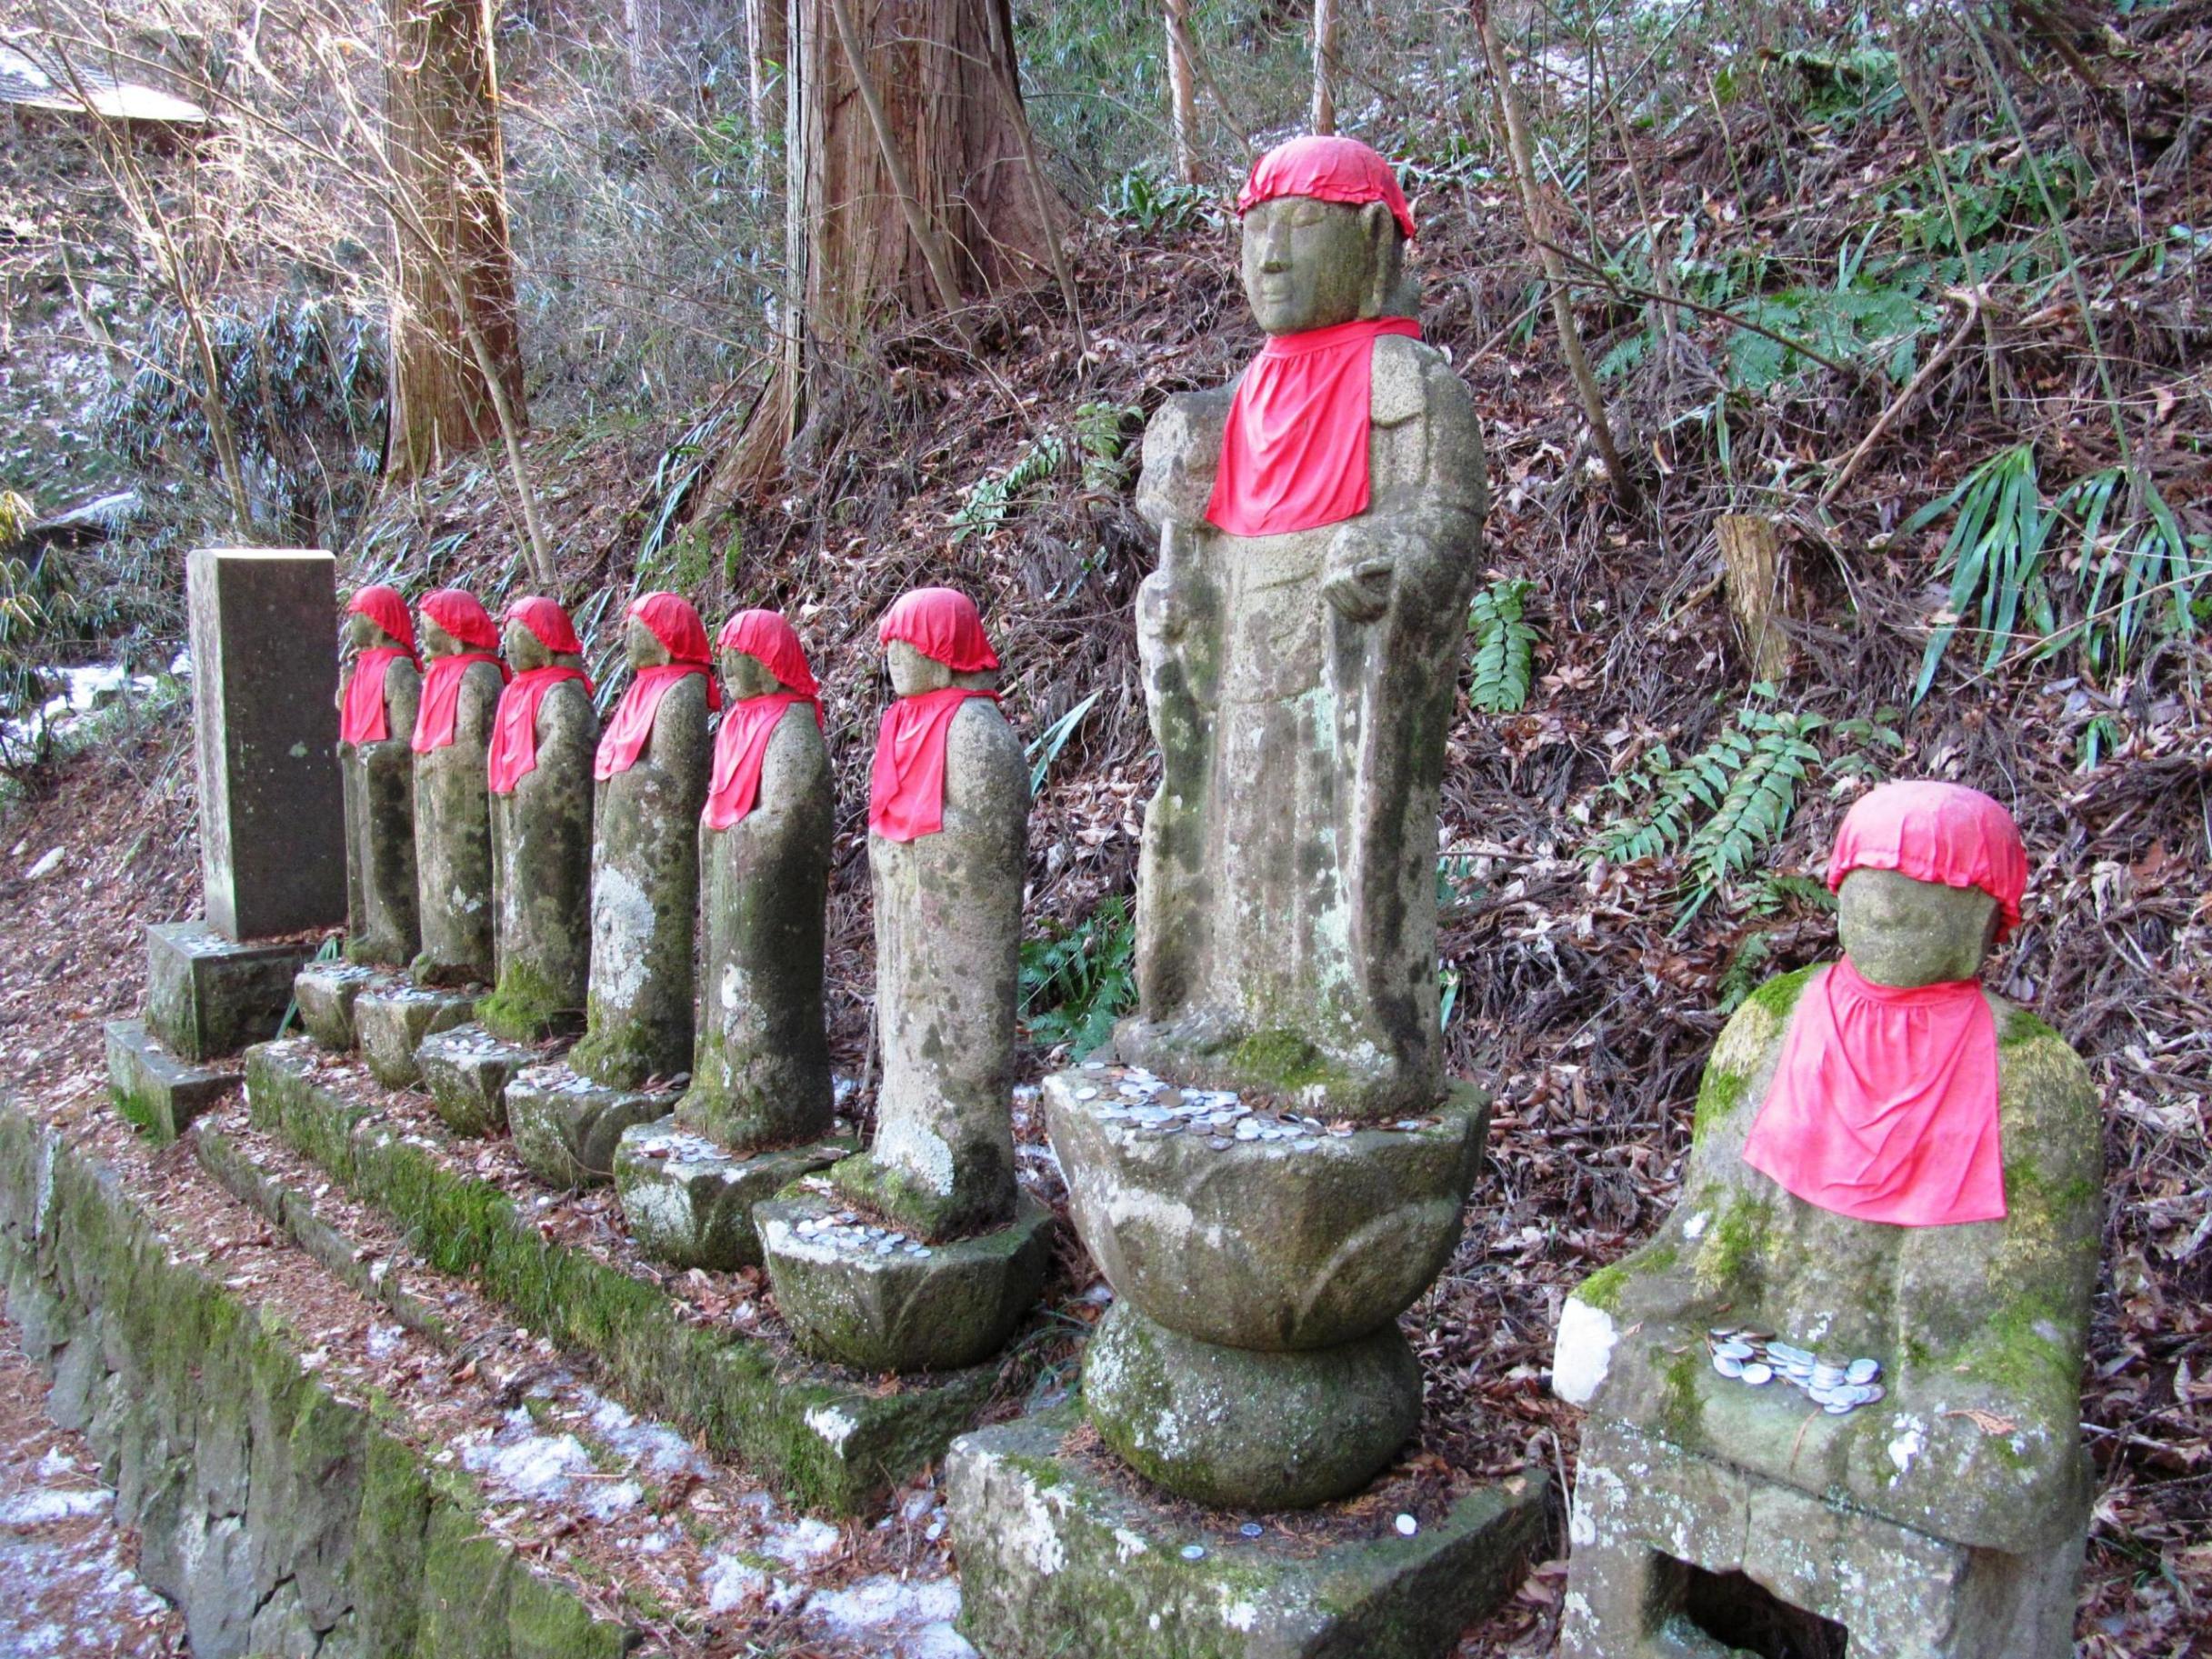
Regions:
<instances>
[{"instance_id":1,"label":"red cloth bib on the tallest standing statue","mask_svg":"<svg viewBox=\"0 0 2212 1659\"><path fill-rule=\"evenodd\" d=\"M1237 380L1206 518L1230 535L1287 535L1367 511L1376 341L1409 316L1279 334Z\"/></svg>"}]
</instances>

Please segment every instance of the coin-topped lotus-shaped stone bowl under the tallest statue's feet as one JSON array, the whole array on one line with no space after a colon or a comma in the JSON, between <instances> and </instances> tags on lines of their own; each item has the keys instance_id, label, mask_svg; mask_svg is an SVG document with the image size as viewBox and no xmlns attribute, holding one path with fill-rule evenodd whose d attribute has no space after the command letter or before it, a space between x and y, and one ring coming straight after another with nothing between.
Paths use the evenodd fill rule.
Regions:
<instances>
[{"instance_id":1,"label":"coin-topped lotus-shaped stone bowl under the tallest statue's feet","mask_svg":"<svg viewBox=\"0 0 2212 1659\"><path fill-rule=\"evenodd\" d=\"M1046 1077L1046 1128L1084 1248L1161 1323L1230 1347L1332 1347L1389 1325L1451 1261L1482 1168L1482 1091L1460 1084L1402 1119L1420 1128L1214 1148L1110 1117L1106 1077Z\"/></svg>"}]
</instances>

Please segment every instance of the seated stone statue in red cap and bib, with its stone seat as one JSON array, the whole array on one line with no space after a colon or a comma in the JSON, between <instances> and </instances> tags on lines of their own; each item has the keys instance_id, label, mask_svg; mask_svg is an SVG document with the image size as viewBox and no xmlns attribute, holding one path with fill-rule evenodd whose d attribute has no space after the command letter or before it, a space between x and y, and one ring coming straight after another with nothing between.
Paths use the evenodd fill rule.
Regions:
<instances>
[{"instance_id":1,"label":"seated stone statue in red cap and bib, with its stone seat","mask_svg":"<svg viewBox=\"0 0 2212 1659\"><path fill-rule=\"evenodd\" d=\"M1681 1201L1559 1316L1575 1659L2073 1652L2104 1152L2081 1060L1980 984L2020 832L1889 783L1827 880L1843 960L1728 1022Z\"/></svg>"}]
</instances>

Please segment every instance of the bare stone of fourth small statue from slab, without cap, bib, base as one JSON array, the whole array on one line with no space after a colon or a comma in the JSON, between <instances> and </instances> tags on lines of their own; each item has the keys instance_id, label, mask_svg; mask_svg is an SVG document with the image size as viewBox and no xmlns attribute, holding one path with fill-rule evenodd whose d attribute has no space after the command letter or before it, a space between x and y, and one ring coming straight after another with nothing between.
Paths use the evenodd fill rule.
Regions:
<instances>
[{"instance_id":1,"label":"bare stone of fourth small statue from slab, without cap, bib, base","mask_svg":"<svg viewBox=\"0 0 2212 1659\"><path fill-rule=\"evenodd\" d=\"M637 617L628 641L633 668L668 661L668 646ZM706 675L686 675L661 692L644 754L599 785L591 1000L568 1064L608 1088L679 1077L692 1064L706 690Z\"/></svg>"}]
</instances>

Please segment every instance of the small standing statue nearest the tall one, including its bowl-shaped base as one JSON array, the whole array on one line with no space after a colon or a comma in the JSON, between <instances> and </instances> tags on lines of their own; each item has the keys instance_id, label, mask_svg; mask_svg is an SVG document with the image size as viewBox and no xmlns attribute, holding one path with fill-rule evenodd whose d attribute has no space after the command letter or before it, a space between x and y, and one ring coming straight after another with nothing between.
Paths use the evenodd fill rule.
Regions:
<instances>
[{"instance_id":1,"label":"small standing statue nearest the tall one, including its bowl-shaped base","mask_svg":"<svg viewBox=\"0 0 2212 1659\"><path fill-rule=\"evenodd\" d=\"M1029 768L973 599L916 588L878 626L876 1139L757 1206L799 1343L867 1371L973 1365L1037 1301L1051 1212L1013 1179Z\"/></svg>"}]
</instances>

